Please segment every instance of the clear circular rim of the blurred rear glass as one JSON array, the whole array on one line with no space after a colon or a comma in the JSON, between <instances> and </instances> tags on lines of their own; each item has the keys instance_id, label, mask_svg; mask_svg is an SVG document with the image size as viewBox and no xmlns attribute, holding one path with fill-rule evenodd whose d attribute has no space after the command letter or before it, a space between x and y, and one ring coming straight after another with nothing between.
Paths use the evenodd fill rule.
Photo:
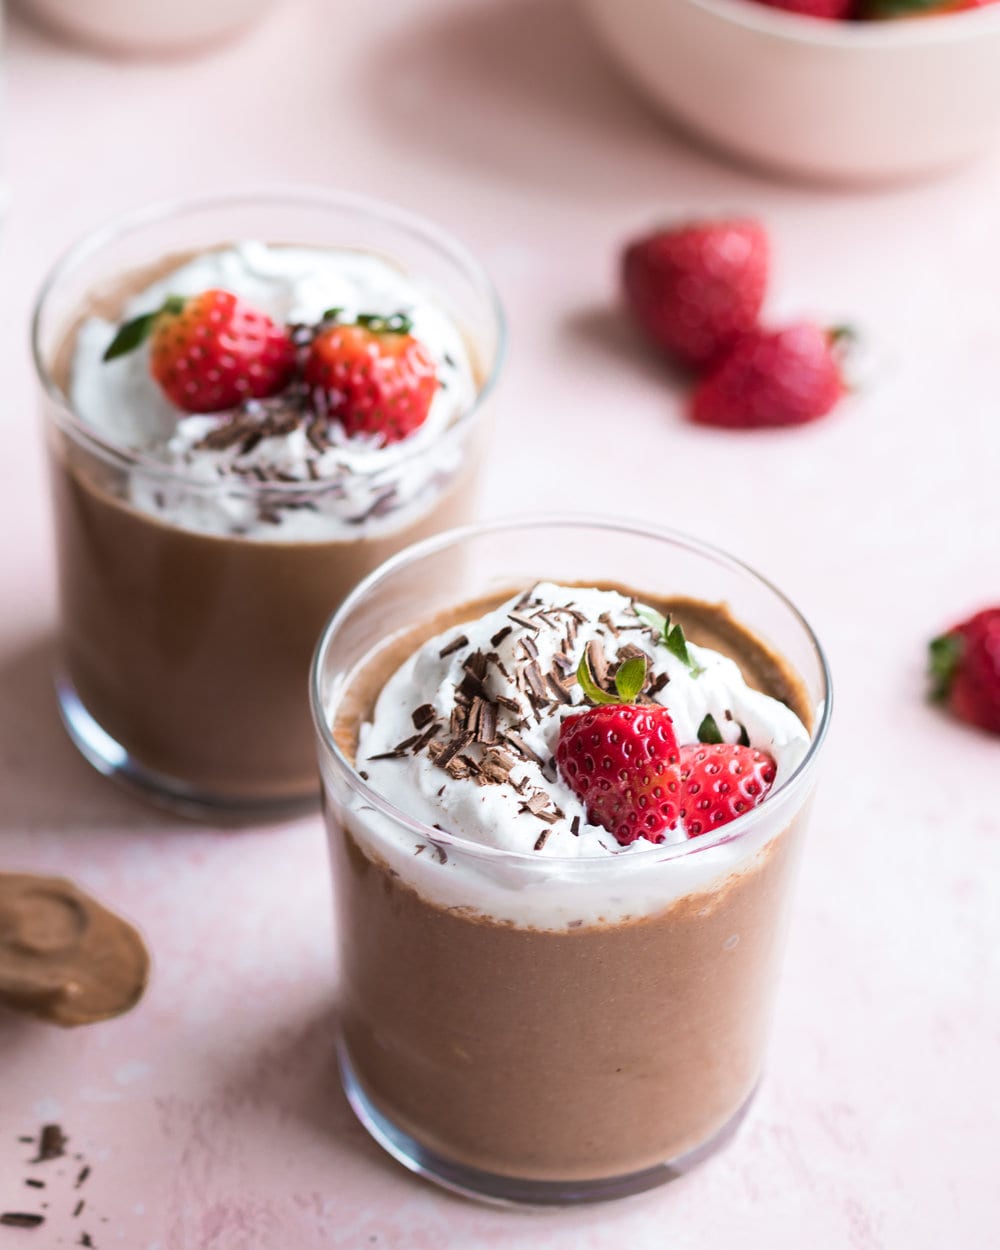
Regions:
<instances>
[{"instance_id":1,"label":"clear circular rim of the blurred rear glass","mask_svg":"<svg viewBox=\"0 0 1000 1250\"><path fill-rule=\"evenodd\" d=\"M191 490L205 494L218 494L219 491L224 491L226 494L235 492L248 495L259 495L261 492L274 495L321 495L324 490L329 490L340 480L335 476L316 481L308 479L305 481L294 482L228 482L221 479L218 482L204 481L190 472L185 472L180 468L165 464L162 460L156 459L156 456L150 455L149 452L136 451L121 446L112 439L102 436L78 415L69 396L52 378L42 350L42 324L52 294L58 290L60 282L68 274L72 274L80 265L85 264L91 258L100 255L105 248L120 239L139 232L144 228L168 221L171 218L179 218L186 214L212 209L225 209L226 206L236 209L249 205L266 206L269 204L274 206L285 205L290 208L349 209L356 212L368 212L371 216L379 218L392 226L398 226L400 230L408 231L412 236L429 244L431 248L436 249L439 254L455 262L458 268L472 280L476 291L482 296L486 306L489 308L496 331L496 349L492 352L489 371L484 378L482 385L476 390L474 404L471 404L460 416L451 421L451 424L442 430L432 442L429 442L425 446L412 448L406 454L400 454L392 460L392 465L405 465L416 460L429 454L432 449L438 449L444 444L459 439L460 435L465 432L466 428L472 424L474 419L484 408L486 400L492 395L506 356L506 315L504 312L504 305L500 300L496 285L485 266L475 258L465 244L460 242L459 239L456 239L450 231L439 226L429 218L424 218L418 212L411 212L409 209L400 208L388 200L380 200L375 196L362 195L355 191L328 191L319 186L290 184L288 186L272 185L256 189L249 188L241 191L224 191L218 194L205 192L201 195L175 196L172 199L156 200L151 204L145 204L140 208L120 212L109 221L105 221L102 225L88 230L58 256L42 279L35 296L31 310L30 338L31 360L35 368L35 375L45 398L55 406L55 424L58 424L66 435L72 438L78 444L85 446L90 452L119 468L138 469L151 479L180 482ZM351 476L360 478L368 476L370 472L371 476L375 476L381 474L385 468L385 465L376 464L372 465L370 471L366 469L351 469L350 474Z\"/></svg>"}]
</instances>

